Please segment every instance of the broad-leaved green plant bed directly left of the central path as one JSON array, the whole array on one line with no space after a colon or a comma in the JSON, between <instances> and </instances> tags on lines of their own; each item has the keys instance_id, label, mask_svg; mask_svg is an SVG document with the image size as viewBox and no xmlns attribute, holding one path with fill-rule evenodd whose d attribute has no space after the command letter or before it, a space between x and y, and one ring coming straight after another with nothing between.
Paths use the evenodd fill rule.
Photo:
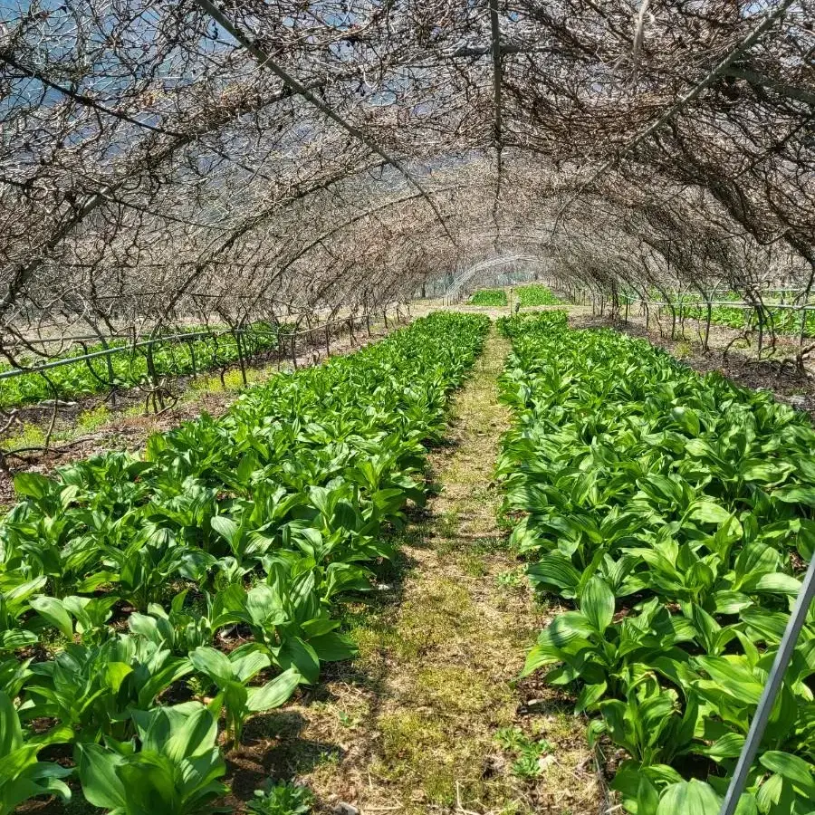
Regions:
<instances>
[{"instance_id":1,"label":"broad-leaved green plant bed directly left of the central path","mask_svg":"<svg viewBox=\"0 0 815 815\"><path fill-rule=\"evenodd\" d=\"M69 776L110 813L213 811L247 718L353 656L337 599L370 589L386 532L423 503L426 445L488 325L436 313L144 455L17 475L0 522L0 815L67 798ZM278 811L264 801L253 811Z\"/></svg>"}]
</instances>

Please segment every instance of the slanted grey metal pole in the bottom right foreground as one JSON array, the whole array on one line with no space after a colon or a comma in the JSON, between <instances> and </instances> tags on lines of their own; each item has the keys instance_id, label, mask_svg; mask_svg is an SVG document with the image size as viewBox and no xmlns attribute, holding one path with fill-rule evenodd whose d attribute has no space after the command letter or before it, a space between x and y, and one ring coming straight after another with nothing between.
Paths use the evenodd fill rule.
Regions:
<instances>
[{"instance_id":1,"label":"slanted grey metal pole in the bottom right foreground","mask_svg":"<svg viewBox=\"0 0 815 815\"><path fill-rule=\"evenodd\" d=\"M770 669L770 676L762 691L758 707L755 709L753 722L750 724L742 754L739 756L739 761L736 764L735 772L733 772L733 778L730 780L730 786L727 789L727 795L724 797L724 803L719 815L733 815L736 805L742 797L744 787L747 786L747 776L753 767L759 745L762 743L764 730L767 727L767 722L770 721L772 705L774 705L775 697L781 690L784 674L790 665L792 652L798 643L798 637L806 622L813 598L815 598L815 558L810 561L810 567L807 569L801 591L795 601L795 608L792 609L787 628L784 630L784 636L781 638L781 645L778 647L778 653L775 655L775 660Z\"/></svg>"}]
</instances>

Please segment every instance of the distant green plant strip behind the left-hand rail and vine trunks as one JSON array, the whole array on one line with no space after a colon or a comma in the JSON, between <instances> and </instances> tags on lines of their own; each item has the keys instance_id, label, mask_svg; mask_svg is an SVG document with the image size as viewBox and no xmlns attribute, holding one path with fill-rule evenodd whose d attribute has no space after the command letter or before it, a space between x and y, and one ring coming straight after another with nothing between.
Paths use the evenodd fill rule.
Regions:
<instances>
[{"instance_id":1,"label":"distant green plant strip behind the left-hand rail and vine trunks","mask_svg":"<svg viewBox=\"0 0 815 815\"><path fill-rule=\"evenodd\" d=\"M254 322L240 334L244 357L277 347L279 329L267 322ZM189 331L193 333L193 331ZM123 340L110 340L108 348L127 348ZM79 357L105 350L101 342L74 349L66 358ZM155 345L121 350L110 355L113 379L110 381L108 359L97 357L61 365L38 373L21 374L0 380L0 408L14 408L52 398L77 398L107 390L111 386L133 388L150 381L150 352L156 376L183 376L195 371L213 369L239 359L237 340L232 333L214 332L195 340L167 340ZM10 369L5 366L5 370Z\"/></svg>"}]
</instances>

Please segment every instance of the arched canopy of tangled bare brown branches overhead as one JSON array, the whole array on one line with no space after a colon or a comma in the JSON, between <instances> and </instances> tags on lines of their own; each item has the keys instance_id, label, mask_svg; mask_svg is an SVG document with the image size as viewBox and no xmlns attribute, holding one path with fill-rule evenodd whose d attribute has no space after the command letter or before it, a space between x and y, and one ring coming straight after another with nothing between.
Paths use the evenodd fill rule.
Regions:
<instances>
[{"instance_id":1,"label":"arched canopy of tangled bare brown branches overhead","mask_svg":"<svg viewBox=\"0 0 815 815\"><path fill-rule=\"evenodd\" d=\"M501 254L809 291L813 11L6 3L0 331L364 311Z\"/></svg>"}]
</instances>

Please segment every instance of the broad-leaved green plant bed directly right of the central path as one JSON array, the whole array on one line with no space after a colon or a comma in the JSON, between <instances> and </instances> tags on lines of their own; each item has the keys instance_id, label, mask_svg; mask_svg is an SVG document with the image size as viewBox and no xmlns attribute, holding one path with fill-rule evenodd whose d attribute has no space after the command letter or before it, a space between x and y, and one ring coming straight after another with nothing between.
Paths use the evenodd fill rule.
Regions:
<instances>
[{"instance_id":1,"label":"broad-leaved green plant bed directly right of the central path","mask_svg":"<svg viewBox=\"0 0 815 815\"><path fill-rule=\"evenodd\" d=\"M523 673L576 693L590 742L626 753L625 810L716 815L815 548L815 431L562 313L501 330L504 511L532 584L571 606ZM740 815L812 811L813 676L810 609Z\"/></svg>"}]
</instances>

